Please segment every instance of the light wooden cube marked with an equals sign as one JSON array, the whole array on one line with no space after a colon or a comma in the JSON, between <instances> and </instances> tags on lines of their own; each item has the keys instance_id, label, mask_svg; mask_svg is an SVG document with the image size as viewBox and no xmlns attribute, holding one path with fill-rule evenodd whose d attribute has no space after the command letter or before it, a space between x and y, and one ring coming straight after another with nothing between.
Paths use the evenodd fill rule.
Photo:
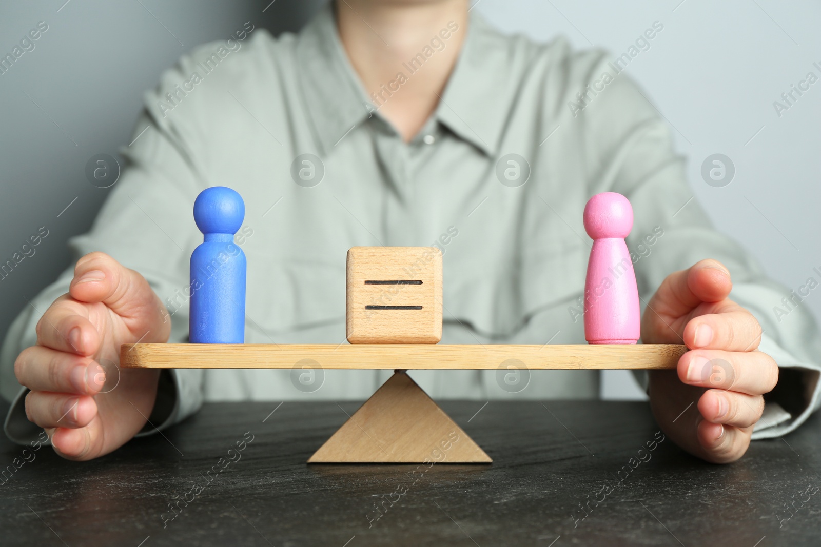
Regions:
<instances>
[{"instance_id":1,"label":"light wooden cube marked with an equals sign","mask_svg":"<svg viewBox=\"0 0 821 547\"><path fill-rule=\"evenodd\" d=\"M351 344L442 340L442 251L353 247L348 251L346 336Z\"/></svg>"}]
</instances>

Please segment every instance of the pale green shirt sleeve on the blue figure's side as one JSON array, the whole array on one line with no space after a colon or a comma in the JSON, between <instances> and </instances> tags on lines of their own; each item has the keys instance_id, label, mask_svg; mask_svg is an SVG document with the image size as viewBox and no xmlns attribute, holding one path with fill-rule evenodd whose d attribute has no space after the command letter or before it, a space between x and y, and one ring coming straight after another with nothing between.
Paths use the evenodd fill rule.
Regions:
<instances>
[{"instance_id":1,"label":"pale green shirt sleeve on the blue figure's side","mask_svg":"<svg viewBox=\"0 0 821 547\"><path fill-rule=\"evenodd\" d=\"M163 73L157 89L144 94L132 143L121 148L126 159L122 174L85 235L69 240L71 267L44 289L12 323L0 350L0 394L11 401L4 429L12 441L28 443L42 428L25 417L25 395L14 375L17 355L36 342L34 327L57 297L68 292L78 258L92 251L108 253L122 265L139 271L168 308L172 322L170 343L188 338L189 258L201 241L191 218L200 190L212 186L198 169L197 133L183 118L163 112L165 93L173 92L186 71L190 57ZM157 403L139 435L147 435L195 413L203 401L203 371L179 369L163 372ZM116 388L115 388L116 389Z\"/></svg>"}]
</instances>

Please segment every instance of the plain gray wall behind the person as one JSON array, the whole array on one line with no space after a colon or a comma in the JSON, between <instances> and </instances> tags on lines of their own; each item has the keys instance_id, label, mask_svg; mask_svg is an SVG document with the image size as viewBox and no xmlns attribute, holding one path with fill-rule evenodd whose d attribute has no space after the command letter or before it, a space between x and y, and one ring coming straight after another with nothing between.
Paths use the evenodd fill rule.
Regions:
<instances>
[{"instance_id":1,"label":"plain gray wall behind the person","mask_svg":"<svg viewBox=\"0 0 821 547\"><path fill-rule=\"evenodd\" d=\"M46 226L49 235L0 280L0 333L69 264L71 235L88 230L108 193L85 179L98 153L129 144L144 89L199 43L227 39L245 21L297 30L323 0L56 0L0 6L0 54L38 21L47 32L0 75L0 262ZM804 0L479 0L508 32L576 48L626 52L654 21L663 31L626 68L690 158L696 198L720 230L791 289L821 269L821 81L777 116L773 101L813 71L821 77L821 5ZM264 11L263 11L264 10ZM701 177L704 158L730 157L722 188ZM75 200L76 198L76 200ZM66 207L71 203L71 206ZM59 215L59 217L58 217ZM821 289L802 305L821 317ZM41 310L42 311L42 310ZM603 396L641 398L628 372L605 372Z\"/></svg>"}]
</instances>

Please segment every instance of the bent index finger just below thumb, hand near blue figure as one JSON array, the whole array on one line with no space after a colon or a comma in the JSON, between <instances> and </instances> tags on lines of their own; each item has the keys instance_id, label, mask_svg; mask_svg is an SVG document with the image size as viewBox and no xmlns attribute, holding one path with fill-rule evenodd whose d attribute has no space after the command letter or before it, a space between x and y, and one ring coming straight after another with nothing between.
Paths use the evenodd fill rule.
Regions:
<instances>
[{"instance_id":1,"label":"bent index finger just below thumb, hand near blue figure","mask_svg":"<svg viewBox=\"0 0 821 547\"><path fill-rule=\"evenodd\" d=\"M37 321L37 343L57 351L91 355L99 348L97 329L68 296L48 307Z\"/></svg>"}]
</instances>

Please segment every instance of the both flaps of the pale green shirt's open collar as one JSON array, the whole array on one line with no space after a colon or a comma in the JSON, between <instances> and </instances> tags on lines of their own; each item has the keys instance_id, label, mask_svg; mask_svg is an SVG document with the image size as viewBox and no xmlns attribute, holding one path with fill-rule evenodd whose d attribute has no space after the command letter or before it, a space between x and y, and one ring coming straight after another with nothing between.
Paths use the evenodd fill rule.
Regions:
<instances>
[{"instance_id":1,"label":"both flaps of the pale green shirt's open collar","mask_svg":"<svg viewBox=\"0 0 821 547\"><path fill-rule=\"evenodd\" d=\"M305 26L296 43L306 109L324 153L375 111L339 38L332 4ZM464 31L459 59L433 116L493 156L511 104L512 86L506 84L511 81L510 43L475 12L470 13L468 29L457 30Z\"/></svg>"}]
</instances>

